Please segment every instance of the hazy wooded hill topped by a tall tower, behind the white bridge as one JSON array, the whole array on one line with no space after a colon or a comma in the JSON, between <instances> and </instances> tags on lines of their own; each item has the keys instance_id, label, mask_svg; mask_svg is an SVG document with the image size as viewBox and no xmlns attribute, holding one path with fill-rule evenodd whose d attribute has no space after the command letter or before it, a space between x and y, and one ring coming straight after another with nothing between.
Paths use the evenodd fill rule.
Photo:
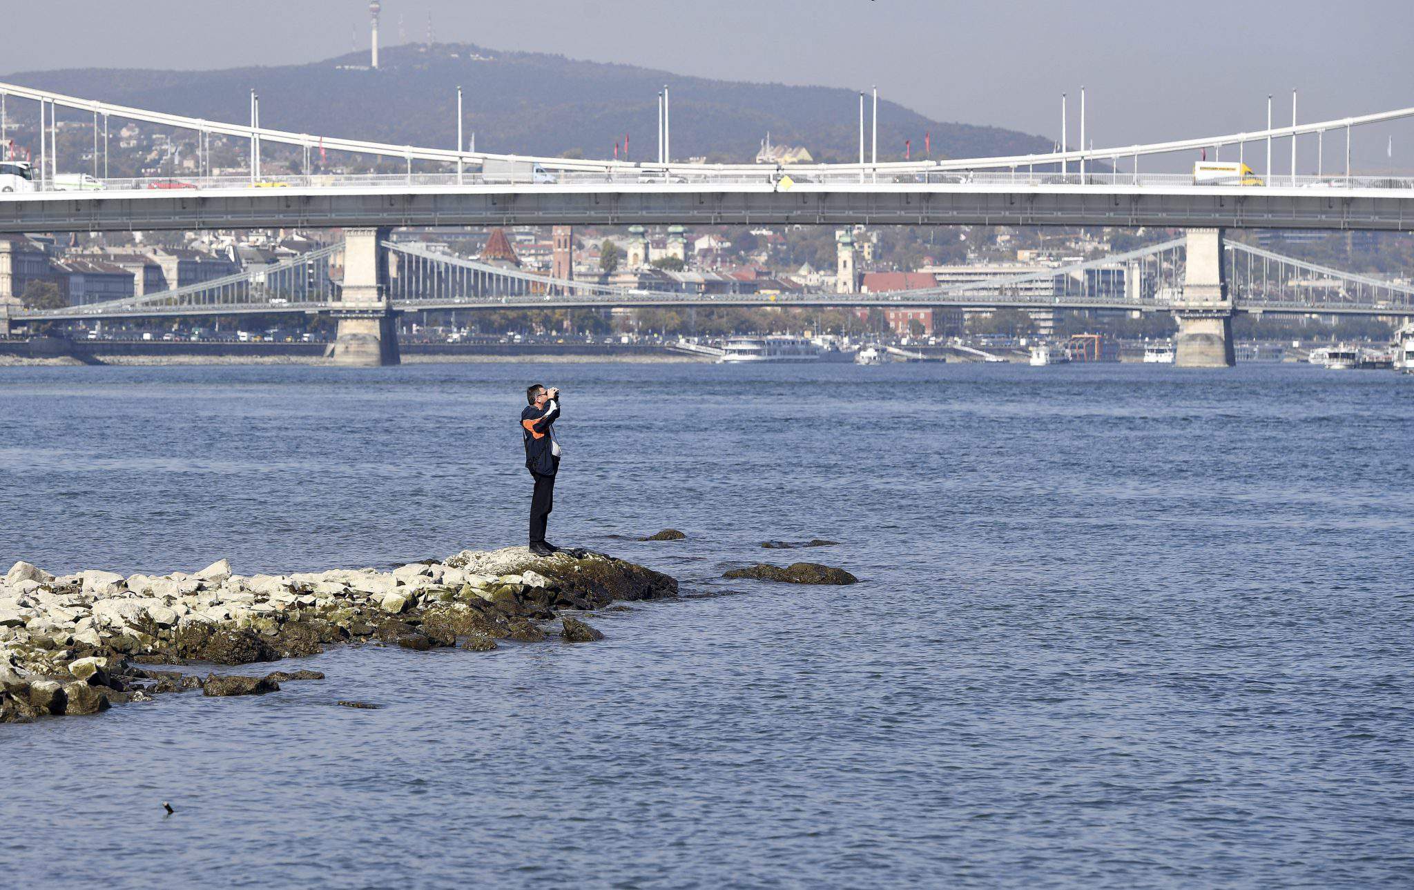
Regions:
<instances>
[{"instance_id":1,"label":"hazy wooded hill topped by a tall tower, behind the white bridge","mask_svg":"<svg viewBox=\"0 0 1414 890\"><path fill-rule=\"evenodd\" d=\"M308 65L223 71L62 69L0 79L89 99L214 120L245 121L249 90L260 119L301 130L421 146L455 146L457 85L468 136L482 151L611 157L631 136L633 160L656 151L658 90L672 90L673 157L749 161L769 131L776 144L803 144L816 160L853 161L858 97L846 89L686 78L663 71L583 62L471 44L404 45L382 51L382 66L345 55ZM61 112L61 116L65 113ZM880 160L899 158L904 140L935 157L1049 151L1051 140L1000 127L929 120L880 102Z\"/></svg>"}]
</instances>

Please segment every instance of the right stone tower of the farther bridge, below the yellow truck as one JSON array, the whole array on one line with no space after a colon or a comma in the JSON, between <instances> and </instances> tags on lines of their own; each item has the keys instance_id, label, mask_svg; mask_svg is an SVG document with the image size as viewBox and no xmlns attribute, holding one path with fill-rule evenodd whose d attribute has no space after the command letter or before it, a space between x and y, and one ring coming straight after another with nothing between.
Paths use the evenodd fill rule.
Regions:
<instances>
[{"instance_id":1,"label":"right stone tower of the farther bridge, below the yellow truck","mask_svg":"<svg viewBox=\"0 0 1414 890\"><path fill-rule=\"evenodd\" d=\"M1233 301L1223 264L1223 230L1189 229L1184 263L1184 295L1175 307L1179 367L1232 367Z\"/></svg>"}]
</instances>

